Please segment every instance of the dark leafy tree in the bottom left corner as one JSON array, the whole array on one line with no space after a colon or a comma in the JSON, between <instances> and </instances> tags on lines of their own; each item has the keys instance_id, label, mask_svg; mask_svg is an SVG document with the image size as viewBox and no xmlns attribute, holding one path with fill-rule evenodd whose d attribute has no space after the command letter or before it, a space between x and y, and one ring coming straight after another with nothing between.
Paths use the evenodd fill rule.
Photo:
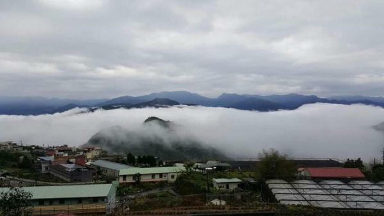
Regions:
<instances>
[{"instance_id":1,"label":"dark leafy tree in the bottom left corner","mask_svg":"<svg viewBox=\"0 0 384 216\"><path fill-rule=\"evenodd\" d=\"M2 216L29 216L32 214L30 192L22 188L10 188L0 193L0 209Z\"/></svg>"}]
</instances>

